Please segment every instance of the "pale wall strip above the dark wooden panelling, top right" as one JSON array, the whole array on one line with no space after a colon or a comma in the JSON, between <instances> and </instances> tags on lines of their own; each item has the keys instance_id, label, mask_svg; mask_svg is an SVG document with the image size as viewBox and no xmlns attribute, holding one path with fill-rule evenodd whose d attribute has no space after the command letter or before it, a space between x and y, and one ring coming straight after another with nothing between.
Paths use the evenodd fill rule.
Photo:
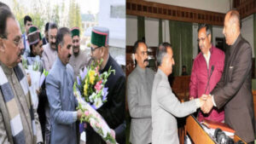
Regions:
<instances>
[{"instance_id":1,"label":"pale wall strip above the dark wooden panelling, top right","mask_svg":"<svg viewBox=\"0 0 256 144\"><path fill-rule=\"evenodd\" d=\"M230 10L230 0L145 0L154 3L164 3L192 9L202 9L218 13Z\"/></svg>"}]
</instances>

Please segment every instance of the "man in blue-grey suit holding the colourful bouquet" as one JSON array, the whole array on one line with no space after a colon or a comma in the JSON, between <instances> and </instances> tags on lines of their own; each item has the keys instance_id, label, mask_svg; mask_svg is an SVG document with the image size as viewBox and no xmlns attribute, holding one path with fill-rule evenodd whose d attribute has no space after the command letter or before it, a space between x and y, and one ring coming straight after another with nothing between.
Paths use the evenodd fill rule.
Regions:
<instances>
[{"instance_id":1,"label":"man in blue-grey suit holding the colourful bouquet","mask_svg":"<svg viewBox=\"0 0 256 144\"><path fill-rule=\"evenodd\" d=\"M76 144L76 121L82 112L76 111L73 95L73 68L68 63L72 54L72 38L67 27L57 32L58 57L46 78L46 92L50 107L50 143Z\"/></svg>"}]
</instances>

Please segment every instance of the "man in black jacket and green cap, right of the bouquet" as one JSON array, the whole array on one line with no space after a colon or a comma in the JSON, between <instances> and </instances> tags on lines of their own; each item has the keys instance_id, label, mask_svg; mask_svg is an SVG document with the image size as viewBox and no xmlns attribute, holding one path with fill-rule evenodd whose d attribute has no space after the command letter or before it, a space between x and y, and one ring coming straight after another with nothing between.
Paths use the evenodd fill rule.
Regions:
<instances>
[{"instance_id":1,"label":"man in black jacket and green cap, right of the bouquet","mask_svg":"<svg viewBox=\"0 0 256 144\"><path fill-rule=\"evenodd\" d=\"M115 70L115 74L108 77L106 87L108 88L107 102L97 109L114 130L115 138L119 143L125 142L125 74L118 63L108 52L109 31L105 27L93 27L91 32L90 53L93 60L103 60L100 73L108 72L109 67ZM88 124L89 125L89 124ZM89 128L86 130L86 144L105 143L101 136Z\"/></svg>"}]
</instances>

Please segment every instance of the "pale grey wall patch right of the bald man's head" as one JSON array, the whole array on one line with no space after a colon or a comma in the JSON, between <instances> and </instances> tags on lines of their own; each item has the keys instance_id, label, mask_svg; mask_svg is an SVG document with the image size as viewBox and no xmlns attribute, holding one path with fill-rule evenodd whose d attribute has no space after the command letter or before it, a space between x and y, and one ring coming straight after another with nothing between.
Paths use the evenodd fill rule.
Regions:
<instances>
[{"instance_id":1,"label":"pale grey wall patch right of the bald man's head","mask_svg":"<svg viewBox=\"0 0 256 144\"><path fill-rule=\"evenodd\" d=\"M248 41L248 43L251 44L254 57L253 38L256 37L253 37L253 14L241 20L241 36L244 37Z\"/></svg>"}]
</instances>

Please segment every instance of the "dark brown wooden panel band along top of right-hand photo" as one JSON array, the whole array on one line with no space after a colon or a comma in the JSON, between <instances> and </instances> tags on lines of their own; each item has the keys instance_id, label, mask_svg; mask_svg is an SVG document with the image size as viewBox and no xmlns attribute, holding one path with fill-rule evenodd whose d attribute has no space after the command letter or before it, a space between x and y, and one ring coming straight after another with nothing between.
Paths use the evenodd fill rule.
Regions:
<instances>
[{"instance_id":1,"label":"dark brown wooden panel band along top of right-hand photo","mask_svg":"<svg viewBox=\"0 0 256 144\"><path fill-rule=\"evenodd\" d=\"M126 14L223 26L224 14L162 3L126 0Z\"/></svg>"}]
</instances>

